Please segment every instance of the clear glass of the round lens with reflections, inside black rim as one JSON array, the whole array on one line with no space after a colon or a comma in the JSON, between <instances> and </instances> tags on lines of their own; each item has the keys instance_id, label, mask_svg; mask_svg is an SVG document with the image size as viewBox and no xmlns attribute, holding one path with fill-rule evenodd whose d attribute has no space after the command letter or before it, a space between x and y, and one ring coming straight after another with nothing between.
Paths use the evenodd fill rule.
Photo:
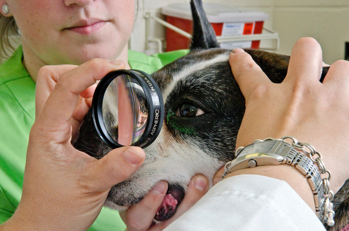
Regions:
<instances>
[{"instance_id":1,"label":"clear glass of the round lens with reflections, inside black rim","mask_svg":"<svg viewBox=\"0 0 349 231\"><path fill-rule=\"evenodd\" d=\"M108 134L117 143L136 143L147 125L147 100L138 81L119 75L107 87L102 103L103 122Z\"/></svg>"}]
</instances>

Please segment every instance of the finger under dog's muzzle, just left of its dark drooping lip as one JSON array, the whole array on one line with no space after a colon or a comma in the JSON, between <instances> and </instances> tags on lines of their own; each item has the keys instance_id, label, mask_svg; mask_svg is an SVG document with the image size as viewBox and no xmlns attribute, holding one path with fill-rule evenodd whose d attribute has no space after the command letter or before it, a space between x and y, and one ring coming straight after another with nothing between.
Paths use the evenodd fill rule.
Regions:
<instances>
[{"instance_id":1,"label":"finger under dog's muzzle, just left of its dark drooping lip","mask_svg":"<svg viewBox=\"0 0 349 231\"><path fill-rule=\"evenodd\" d=\"M129 231L147 230L150 227L165 198L167 188L166 181L158 182L139 203L120 212L120 216Z\"/></svg>"}]
</instances>

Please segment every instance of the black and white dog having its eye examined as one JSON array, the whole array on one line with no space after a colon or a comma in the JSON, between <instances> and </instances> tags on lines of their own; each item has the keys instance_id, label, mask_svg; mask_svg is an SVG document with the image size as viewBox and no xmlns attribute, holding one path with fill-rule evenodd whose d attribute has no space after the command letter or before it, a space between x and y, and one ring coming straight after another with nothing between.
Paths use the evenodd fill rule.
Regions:
<instances>
[{"instance_id":1,"label":"black and white dog having its eye examined","mask_svg":"<svg viewBox=\"0 0 349 231\"><path fill-rule=\"evenodd\" d=\"M213 176L235 158L236 136L244 116L245 99L229 65L231 50L221 49L203 11L201 0L191 0L193 39L190 53L164 66L151 76L162 91L165 119L157 139L147 148L142 166L127 180L114 185L105 206L123 210L138 203L161 180L169 184L156 221L176 213L186 185L195 174ZM289 56L245 50L274 83L287 74ZM323 69L324 78L328 70ZM258 137L257 137L258 138ZM86 114L74 144L78 150L102 158L111 148L99 139L91 110ZM333 200L335 226L349 222L349 180Z\"/></svg>"}]
</instances>

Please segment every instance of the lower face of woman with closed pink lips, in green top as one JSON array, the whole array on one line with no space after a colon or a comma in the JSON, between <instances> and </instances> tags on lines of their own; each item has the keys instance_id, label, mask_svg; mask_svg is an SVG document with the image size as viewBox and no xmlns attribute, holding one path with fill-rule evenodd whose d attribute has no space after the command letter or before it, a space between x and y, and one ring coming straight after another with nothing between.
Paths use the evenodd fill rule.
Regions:
<instances>
[{"instance_id":1,"label":"lower face of woman with closed pink lips, in green top","mask_svg":"<svg viewBox=\"0 0 349 231\"><path fill-rule=\"evenodd\" d=\"M7 0L24 47L49 65L116 59L127 45L134 0Z\"/></svg>"}]
</instances>

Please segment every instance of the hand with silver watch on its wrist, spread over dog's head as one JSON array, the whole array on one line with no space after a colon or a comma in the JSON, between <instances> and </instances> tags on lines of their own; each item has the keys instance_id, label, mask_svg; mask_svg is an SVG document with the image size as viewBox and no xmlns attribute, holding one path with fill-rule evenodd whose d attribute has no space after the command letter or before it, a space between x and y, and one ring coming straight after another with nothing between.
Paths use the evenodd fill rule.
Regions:
<instances>
[{"instance_id":1,"label":"hand with silver watch on its wrist, spread over dog's head","mask_svg":"<svg viewBox=\"0 0 349 231\"><path fill-rule=\"evenodd\" d=\"M282 136L294 136L300 142L310 143L322 154L326 168L331 171L330 188L336 193L349 178L349 62L335 62L323 83L319 82L322 52L312 38L299 39L294 45L287 76L280 84L272 83L241 49L231 53L229 61L246 99L236 147L251 144L255 139ZM302 181L305 179L302 174L295 178L299 174L296 172L287 165L266 165L228 176L262 174L286 180L313 207L310 187L306 180ZM222 173L220 170L216 174L215 182ZM309 189L305 197L301 195L301 185Z\"/></svg>"}]
</instances>

